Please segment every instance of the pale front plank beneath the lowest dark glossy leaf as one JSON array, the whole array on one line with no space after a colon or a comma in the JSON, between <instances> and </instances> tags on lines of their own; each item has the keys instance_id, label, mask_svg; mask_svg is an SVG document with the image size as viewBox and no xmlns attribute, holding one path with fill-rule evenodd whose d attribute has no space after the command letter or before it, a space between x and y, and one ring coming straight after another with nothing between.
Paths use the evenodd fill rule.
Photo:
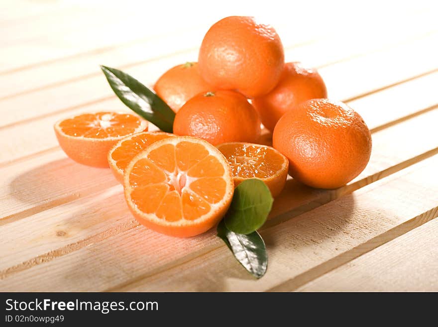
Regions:
<instances>
[{"instance_id":1,"label":"pale front plank beneath the lowest dark glossy leaf","mask_svg":"<svg viewBox=\"0 0 438 327\"><path fill-rule=\"evenodd\" d=\"M116 291L291 291L438 215L438 156L262 231L266 275L255 280L221 247ZM397 201L394 201L397 199ZM389 235L388 235L389 234ZM392 236L391 236L392 234ZM389 239L388 239L389 238Z\"/></svg>"}]
</instances>

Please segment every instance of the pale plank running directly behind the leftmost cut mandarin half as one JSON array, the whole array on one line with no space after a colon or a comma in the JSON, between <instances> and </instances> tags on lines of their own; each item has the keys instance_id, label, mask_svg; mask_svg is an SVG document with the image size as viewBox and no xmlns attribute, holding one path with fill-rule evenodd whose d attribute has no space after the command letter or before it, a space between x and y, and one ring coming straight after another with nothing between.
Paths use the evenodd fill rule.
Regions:
<instances>
[{"instance_id":1,"label":"pale plank running directly behind the leftmost cut mandarin half","mask_svg":"<svg viewBox=\"0 0 438 327\"><path fill-rule=\"evenodd\" d=\"M438 96L432 90L432 87L437 84L438 73L434 73L352 101L349 105L363 116L369 128L378 128L437 105ZM406 97L408 93L416 96ZM57 146L58 143L51 128L57 120L79 112L108 109L129 110L118 99L112 97L97 104L69 110L68 113L61 112L0 128L0 138L9 139L9 142L3 146L3 152L0 153L0 164Z\"/></svg>"}]
</instances>

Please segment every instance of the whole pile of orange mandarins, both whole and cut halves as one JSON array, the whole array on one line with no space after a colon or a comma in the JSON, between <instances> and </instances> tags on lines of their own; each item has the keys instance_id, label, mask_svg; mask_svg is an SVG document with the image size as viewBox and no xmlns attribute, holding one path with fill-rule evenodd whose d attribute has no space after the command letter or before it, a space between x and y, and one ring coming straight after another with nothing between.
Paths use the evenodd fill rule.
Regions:
<instances>
[{"instance_id":1,"label":"whole pile of orange mandarins, both whole and cut halves","mask_svg":"<svg viewBox=\"0 0 438 327\"><path fill-rule=\"evenodd\" d=\"M316 69L285 63L275 29L253 17L219 20L198 62L171 68L154 90L176 113L173 134L114 112L64 119L55 131L72 159L109 165L134 217L162 233L210 229L226 212L233 184L245 179L261 179L274 197L288 173L311 187L338 188L370 157L361 116L327 99ZM258 144L261 124L273 147Z\"/></svg>"}]
</instances>

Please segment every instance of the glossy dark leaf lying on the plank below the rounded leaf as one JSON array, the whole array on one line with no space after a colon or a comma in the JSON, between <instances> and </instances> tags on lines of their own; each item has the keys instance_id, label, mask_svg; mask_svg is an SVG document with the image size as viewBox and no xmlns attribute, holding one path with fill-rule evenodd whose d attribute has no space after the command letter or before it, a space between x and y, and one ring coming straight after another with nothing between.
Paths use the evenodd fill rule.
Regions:
<instances>
[{"instance_id":1,"label":"glossy dark leaf lying on the plank below the rounded leaf","mask_svg":"<svg viewBox=\"0 0 438 327\"><path fill-rule=\"evenodd\" d=\"M266 273L268 254L265 242L257 231L248 235L237 234L226 228L222 219L218 225L218 236L250 274L260 278Z\"/></svg>"}]
</instances>

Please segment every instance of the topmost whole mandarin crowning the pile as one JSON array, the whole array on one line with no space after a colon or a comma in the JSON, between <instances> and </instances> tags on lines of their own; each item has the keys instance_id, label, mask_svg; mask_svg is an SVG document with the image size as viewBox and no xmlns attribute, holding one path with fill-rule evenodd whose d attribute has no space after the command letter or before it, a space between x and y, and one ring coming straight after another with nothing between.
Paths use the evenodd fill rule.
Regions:
<instances>
[{"instance_id":1,"label":"topmost whole mandarin crowning the pile","mask_svg":"<svg viewBox=\"0 0 438 327\"><path fill-rule=\"evenodd\" d=\"M205 35L198 57L201 76L218 89L260 97L278 83L284 50L275 29L248 16L230 16Z\"/></svg>"}]
</instances>

